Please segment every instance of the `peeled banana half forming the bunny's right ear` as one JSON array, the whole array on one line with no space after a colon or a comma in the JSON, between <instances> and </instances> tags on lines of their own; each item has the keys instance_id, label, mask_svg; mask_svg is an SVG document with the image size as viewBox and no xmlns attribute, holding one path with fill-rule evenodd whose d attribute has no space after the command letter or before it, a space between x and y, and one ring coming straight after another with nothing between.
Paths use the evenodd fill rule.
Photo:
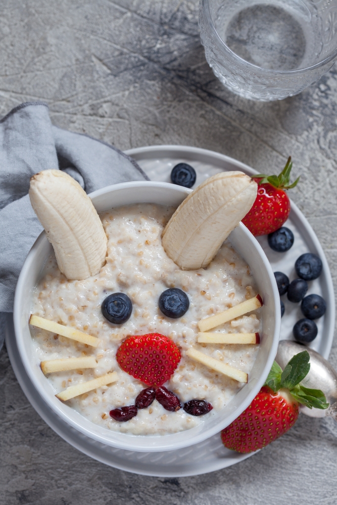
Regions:
<instances>
[{"instance_id":1,"label":"peeled banana half forming the bunny's right ear","mask_svg":"<svg viewBox=\"0 0 337 505\"><path fill-rule=\"evenodd\" d=\"M220 172L192 191L163 231L165 252L182 270L205 268L254 204L257 183L243 172Z\"/></svg>"}]
</instances>

